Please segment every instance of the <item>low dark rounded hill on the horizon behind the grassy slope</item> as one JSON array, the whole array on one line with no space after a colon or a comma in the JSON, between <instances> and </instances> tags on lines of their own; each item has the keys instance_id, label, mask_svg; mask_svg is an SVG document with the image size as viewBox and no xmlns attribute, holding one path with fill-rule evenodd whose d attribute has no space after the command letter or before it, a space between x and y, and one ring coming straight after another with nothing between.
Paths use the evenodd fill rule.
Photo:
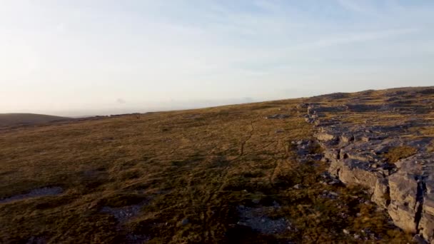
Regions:
<instances>
[{"instance_id":1,"label":"low dark rounded hill on the horizon behind the grassy slope","mask_svg":"<svg viewBox=\"0 0 434 244\"><path fill-rule=\"evenodd\" d=\"M51 121L64 121L68 119L70 118L35 113L0 113L0 126L47 123Z\"/></svg>"}]
</instances>

